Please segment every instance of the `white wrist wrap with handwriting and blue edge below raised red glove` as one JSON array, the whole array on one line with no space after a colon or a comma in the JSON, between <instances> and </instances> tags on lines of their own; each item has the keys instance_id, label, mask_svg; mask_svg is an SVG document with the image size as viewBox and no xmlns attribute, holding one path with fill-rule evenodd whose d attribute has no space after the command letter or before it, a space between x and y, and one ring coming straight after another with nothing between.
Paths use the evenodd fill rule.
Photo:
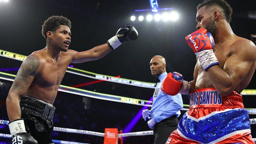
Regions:
<instances>
[{"instance_id":1,"label":"white wrist wrap with handwriting and blue edge below raised red glove","mask_svg":"<svg viewBox=\"0 0 256 144\"><path fill-rule=\"evenodd\" d=\"M197 56L205 71L207 71L211 66L219 65L218 59L216 58L212 49L198 52Z\"/></svg>"}]
</instances>

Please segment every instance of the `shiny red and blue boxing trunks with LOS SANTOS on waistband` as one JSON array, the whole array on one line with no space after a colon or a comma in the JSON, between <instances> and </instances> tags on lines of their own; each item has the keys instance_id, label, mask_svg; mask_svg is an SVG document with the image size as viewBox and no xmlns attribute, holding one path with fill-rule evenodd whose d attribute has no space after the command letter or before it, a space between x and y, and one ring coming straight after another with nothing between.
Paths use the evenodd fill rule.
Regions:
<instances>
[{"instance_id":1,"label":"shiny red and blue boxing trunks with LOS SANTOS on waistband","mask_svg":"<svg viewBox=\"0 0 256 144\"><path fill-rule=\"evenodd\" d=\"M215 88L190 93L190 108L166 144L255 144L242 96L222 97Z\"/></svg>"}]
</instances>

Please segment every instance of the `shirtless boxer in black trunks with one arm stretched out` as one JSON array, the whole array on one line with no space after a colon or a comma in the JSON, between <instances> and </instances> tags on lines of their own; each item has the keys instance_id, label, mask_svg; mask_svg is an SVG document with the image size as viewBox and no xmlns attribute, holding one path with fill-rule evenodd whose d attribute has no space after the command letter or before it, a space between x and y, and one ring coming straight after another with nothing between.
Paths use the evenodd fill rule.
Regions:
<instances>
[{"instance_id":1,"label":"shirtless boxer in black trunks with one arm stretched out","mask_svg":"<svg viewBox=\"0 0 256 144\"><path fill-rule=\"evenodd\" d=\"M50 136L55 107L52 104L68 65L100 59L122 43L138 37L137 30L126 25L107 43L77 52L68 49L70 29L67 18L49 17L42 25L46 47L23 61L6 99L12 143L53 143Z\"/></svg>"}]
</instances>

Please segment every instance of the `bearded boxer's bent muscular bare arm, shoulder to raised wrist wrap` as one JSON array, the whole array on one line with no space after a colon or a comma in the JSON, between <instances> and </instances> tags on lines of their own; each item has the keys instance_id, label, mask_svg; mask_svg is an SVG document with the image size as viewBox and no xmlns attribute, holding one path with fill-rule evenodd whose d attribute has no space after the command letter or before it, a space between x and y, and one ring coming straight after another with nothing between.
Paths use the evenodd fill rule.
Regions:
<instances>
[{"instance_id":1,"label":"bearded boxer's bent muscular bare arm, shoulder to raised wrist wrap","mask_svg":"<svg viewBox=\"0 0 256 144\"><path fill-rule=\"evenodd\" d=\"M227 96L244 80L252 65L255 65L255 60L255 44L247 39L239 39L233 43L232 54L224 68L215 65L207 73L219 94Z\"/></svg>"}]
</instances>

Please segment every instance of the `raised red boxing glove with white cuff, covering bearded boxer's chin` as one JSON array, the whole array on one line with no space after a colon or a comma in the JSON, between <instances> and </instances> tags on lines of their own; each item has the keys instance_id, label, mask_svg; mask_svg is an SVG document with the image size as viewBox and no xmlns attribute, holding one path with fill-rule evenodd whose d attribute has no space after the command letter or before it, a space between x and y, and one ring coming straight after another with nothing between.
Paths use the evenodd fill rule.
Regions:
<instances>
[{"instance_id":1,"label":"raised red boxing glove with white cuff, covering bearded boxer's chin","mask_svg":"<svg viewBox=\"0 0 256 144\"><path fill-rule=\"evenodd\" d=\"M214 40L206 29L199 29L186 36L187 44L197 55L201 66L207 71L210 67L218 65L218 59L213 52Z\"/></svg>"}]
</instances>

